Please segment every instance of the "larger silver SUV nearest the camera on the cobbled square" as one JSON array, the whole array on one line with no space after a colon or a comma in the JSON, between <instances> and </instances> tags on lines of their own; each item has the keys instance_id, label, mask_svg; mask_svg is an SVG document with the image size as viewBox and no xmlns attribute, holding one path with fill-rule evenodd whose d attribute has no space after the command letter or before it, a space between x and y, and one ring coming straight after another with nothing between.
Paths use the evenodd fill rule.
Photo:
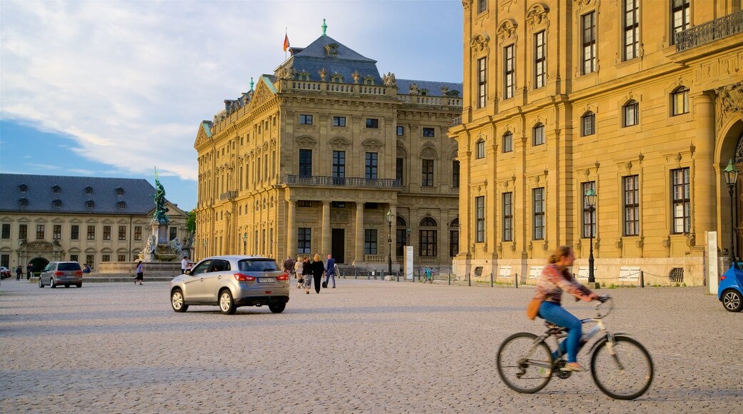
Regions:
<instances>
[{"instance_id":1,"label":"larger silver SUV nearest the camera on the cobbled square","mask_svg":"<svg viewBox=\"0 0 743 414\"><path fill-rule=\"evenodd\" d=\"M189 305L211 305L232 315L239 306L267 305L271 312L280 313L288 301L289 275L269 257L207 257L170 282L175 312L186 312Z\"/></svg>"}]
</instances>

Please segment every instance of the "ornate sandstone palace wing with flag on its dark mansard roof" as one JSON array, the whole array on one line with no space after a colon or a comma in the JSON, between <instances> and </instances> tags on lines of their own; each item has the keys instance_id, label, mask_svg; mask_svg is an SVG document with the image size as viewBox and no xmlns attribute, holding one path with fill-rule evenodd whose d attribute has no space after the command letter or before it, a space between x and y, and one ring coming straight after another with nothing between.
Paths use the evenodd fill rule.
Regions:
<instances>
[{"instance_id":1,"label":"ornate sandstone palace wing with flag on its dark mansard roof","mask_svg":"<svg viewBox=\"0 0 743 414\"><path fill-rule=\"evenodd\" d=\"M450 268L461 83L380 76L325 30L201 122L197 257L332 254L386 270L392 256L397 271L408 245L415 266Z\"/></svg>"}]
</instances>

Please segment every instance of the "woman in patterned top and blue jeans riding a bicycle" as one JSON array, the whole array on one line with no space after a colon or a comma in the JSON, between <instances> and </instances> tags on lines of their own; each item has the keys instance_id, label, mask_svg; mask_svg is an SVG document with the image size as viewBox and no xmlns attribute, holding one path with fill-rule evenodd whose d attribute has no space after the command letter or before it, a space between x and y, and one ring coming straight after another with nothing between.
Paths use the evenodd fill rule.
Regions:
<instances>
[{"instance_id":1,"label":"woman in patterned top and blue jeans riding a bicycle","mask_svg":"<svg viewBox=\"0 0 743 414\"><path fill-rule=\"evenodd\" d=\"M568 354L568 363L565 364L563 369L582 372L585 371L585 368L577 363L576 356L580 345L580 337L583 334L583 323L560 306L560 299L562 298L562 291L586 302L598 300L599 295L578 283L573 275L568 272L568 267L573 266L574 260L575 256L570 246L559 246L550 256L550 264L545 266L542 274L536 280L534 299L542 301L539 306L539 318L568 329L568 338L565 338L565 341L560 344L562 352L567 351Z\"/></svg>"}]
</instances>

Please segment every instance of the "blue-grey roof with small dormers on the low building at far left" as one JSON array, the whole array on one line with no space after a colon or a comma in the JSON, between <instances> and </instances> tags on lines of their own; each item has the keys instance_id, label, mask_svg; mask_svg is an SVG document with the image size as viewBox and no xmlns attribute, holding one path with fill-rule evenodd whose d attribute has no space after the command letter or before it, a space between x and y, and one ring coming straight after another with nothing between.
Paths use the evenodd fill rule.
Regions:
<instances>
[{"instance_id":1,"label":"blue-grey roof with small dormers on the low building at far left","mask_svg":"<svg viewBox=\"0 0 743 414\"><path fill-rule=\"evenodd\" d=\"M21 185L26 185L25 193L20 192ZM55 185L59 186L59 194L54 194ZM88 186L92 194L85 194ZM117 195L118 188L123 195ZM143 179L0 174L0 211L149 214L155 209L150 194L155 194L155 187ZM24 198L27 206L21 206ZM53 206L55 200L61 206ZM88 208L88 201L94 202L92 208ZM125 203L123 208L120 202Z\"/></svg>"}]
</instances>

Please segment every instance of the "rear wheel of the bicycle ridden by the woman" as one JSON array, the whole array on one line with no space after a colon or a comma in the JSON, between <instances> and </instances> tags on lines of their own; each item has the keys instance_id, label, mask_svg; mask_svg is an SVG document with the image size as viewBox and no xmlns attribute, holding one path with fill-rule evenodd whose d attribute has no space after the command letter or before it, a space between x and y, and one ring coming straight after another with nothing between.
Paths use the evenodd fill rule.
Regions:
<instances>
[{"instance_id":1,"label":"rear wheel of the bicycle ridden by the woman","mask_svg":"<svg viewBox=\"0 0 743 414\"><path fill-rule=\"evenodd\" d=\"M516 392L531 394L542 390L552 378L552 352L536 335L510 335L498 349L498 374Z\"/></svg>"}]
</instances>

